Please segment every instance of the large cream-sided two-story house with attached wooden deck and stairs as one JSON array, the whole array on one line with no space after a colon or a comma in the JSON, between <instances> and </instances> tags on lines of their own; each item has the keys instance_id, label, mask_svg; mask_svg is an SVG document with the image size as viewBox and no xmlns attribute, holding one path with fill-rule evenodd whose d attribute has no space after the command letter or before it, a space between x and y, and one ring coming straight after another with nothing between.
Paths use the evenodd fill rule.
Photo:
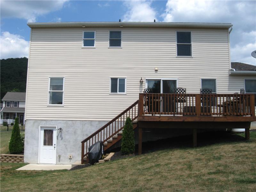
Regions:
<instances>
[{"instance_id":1,"label":"large cream-sided two-story house with attached wooden deck and stairs","mask_svg":"<svg viewBox=\"0 0 256 192\"><path fill-rule=\"evenodd\" d=\"M193 128L194 146L201 125L225 130L243 126L248 139L250 122L256 121L253 95L233 93L242 88L254 92L256 72L238 76L231 70L232 24L59 22L28 26L25 162L83 161L95 141L104 141L107 149L121 139L127 116L138 121L134 128L139 127L135 134L139 153L142 129L147 129L143 140L150 140L152 134L153 139L170 136L168 129L164 134L150 129L156 127L189 128L179 134L190 134ZM173 94L177 87L186 88L187 94L180 96L184 100ZM145 88L157 94L143 94ZM201 88L211 89L211 98L201 96Z\"/></svg>"}]
</instances>

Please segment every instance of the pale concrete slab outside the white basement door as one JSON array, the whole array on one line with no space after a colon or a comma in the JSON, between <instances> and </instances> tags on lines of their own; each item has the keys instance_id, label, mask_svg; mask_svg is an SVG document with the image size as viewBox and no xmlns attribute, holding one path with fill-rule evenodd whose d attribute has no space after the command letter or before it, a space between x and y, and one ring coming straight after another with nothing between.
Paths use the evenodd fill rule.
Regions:
<instances>
[{"instance_id":1,"label":"pale concrete slab outside the white basement door","mask_svg":"<svg viewBox=\"0 0 256 192\"><path fill-rule=\"evenodd\" d=\"M71 169L71 165L48 165L48 164L28 164L23 167L20 167L16 170L61 170L61 169Z\"/></svg>"}]
</instances>

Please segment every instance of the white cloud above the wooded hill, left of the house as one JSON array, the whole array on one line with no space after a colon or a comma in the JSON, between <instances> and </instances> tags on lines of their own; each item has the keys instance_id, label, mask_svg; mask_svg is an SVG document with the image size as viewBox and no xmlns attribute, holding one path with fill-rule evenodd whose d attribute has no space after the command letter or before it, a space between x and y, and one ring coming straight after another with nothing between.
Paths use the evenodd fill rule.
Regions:
<instances>
[{"instance_id":1,"label":"white cloud above the wooded hill, left of the house","mask_svg":"<svg viewBox=\"0 0 256 192\"><path fill-rule=\"evenodd\" d=\"M22 36L4 31L1 34L1 59L28 57L29 42Z\"/></svg>"}]
</instances>

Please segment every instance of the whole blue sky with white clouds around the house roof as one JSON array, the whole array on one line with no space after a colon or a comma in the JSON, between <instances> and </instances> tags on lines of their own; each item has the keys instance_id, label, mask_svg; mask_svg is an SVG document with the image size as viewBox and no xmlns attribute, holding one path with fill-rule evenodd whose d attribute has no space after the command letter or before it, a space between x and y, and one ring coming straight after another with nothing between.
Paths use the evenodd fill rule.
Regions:
<instances>
[{"instance_id":1,"label":"whole blue sky with white clouds around the house roof","mask_svg":"<svg viewBox=\"0 0 256 192\"><path fill-rule=\"evenodd\" d=\"M28 56L27 22L228 22L231 61L256 65L256 1L2 1L1 59Z\"/></svg>"}]
</instances>

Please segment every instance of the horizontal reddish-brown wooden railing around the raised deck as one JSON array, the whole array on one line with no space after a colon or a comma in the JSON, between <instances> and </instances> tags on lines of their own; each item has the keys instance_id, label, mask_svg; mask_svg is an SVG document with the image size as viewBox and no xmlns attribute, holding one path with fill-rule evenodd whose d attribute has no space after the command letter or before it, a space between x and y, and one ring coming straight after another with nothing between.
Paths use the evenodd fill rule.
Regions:
<instances>
[{"instance_id":1,"label":"horizontal reddish-brown wooden railing around the raised deck","mask_svg":"<svg viewBox=\"0 0 256 192\"><path fill-rule=\"evenodd\" d=\"M254 94L140 93L139 115L255 116Z\"/></svg>"}]
</instances>

